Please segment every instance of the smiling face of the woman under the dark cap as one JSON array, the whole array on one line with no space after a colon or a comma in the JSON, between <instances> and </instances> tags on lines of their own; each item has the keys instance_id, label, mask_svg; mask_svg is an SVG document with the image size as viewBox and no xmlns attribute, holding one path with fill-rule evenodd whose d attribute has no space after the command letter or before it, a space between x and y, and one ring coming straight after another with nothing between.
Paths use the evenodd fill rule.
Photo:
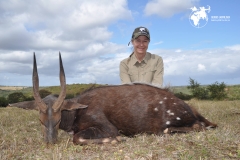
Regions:
<instances>
[{"instance_id":1,"label":"smiling face of the woman under the dark cap","mask_svg":"<svg viewBox=\"0 0 240 160\"><path fill-rule=\"evenodd\" d=\"M146 54L149 44L149 39L146 36L139 36L132 40L134 52L137 54Z\"/></svg>"}]
</instances>

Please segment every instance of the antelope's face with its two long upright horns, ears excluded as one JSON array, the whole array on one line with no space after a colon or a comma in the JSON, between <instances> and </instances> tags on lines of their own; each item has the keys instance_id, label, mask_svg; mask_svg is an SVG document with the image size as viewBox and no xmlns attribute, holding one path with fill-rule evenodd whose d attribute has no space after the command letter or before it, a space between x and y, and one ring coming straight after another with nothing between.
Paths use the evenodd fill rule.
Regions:
<instances>
[{"instance_id":1,"label":"antelope's face with its two long upright horns, ears excluded","mask_svg":"<svg viewBox=\"0 0 240 160\"><path fill-rule=\"evenodd\" d=\"M33 96L35 103L39 108L39 120L41 122L42 133L46 143L56 143L57 141L59 124L61 122L61 106L63 105L66 96L66 80L61 53L59 53L59 64L61 92L58 98L44 102L39 95L39 79L35 53L33 55Z\"/></svg>"}]
</instances>

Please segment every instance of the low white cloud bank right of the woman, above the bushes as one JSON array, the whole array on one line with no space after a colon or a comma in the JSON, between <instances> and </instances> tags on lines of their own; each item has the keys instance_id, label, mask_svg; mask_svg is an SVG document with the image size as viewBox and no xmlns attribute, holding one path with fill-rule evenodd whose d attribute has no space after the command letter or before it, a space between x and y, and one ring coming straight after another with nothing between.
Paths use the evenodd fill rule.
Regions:
<instances>
[{"instance_id":1,"label":"low white cloud bank right of the woman, above the bushes","mask_svg":"<svg viewBox=\"0 0 240 160\"><path fill-rule=\"evenodd\" d=\"M150 52L163 57L165 84L188 84L189 77L201 79L205 84L220 81L219 79L224 79L227 84L239 83L239 51L219 48L182 52L156 49Z\"/></svg>"}]
</instances>

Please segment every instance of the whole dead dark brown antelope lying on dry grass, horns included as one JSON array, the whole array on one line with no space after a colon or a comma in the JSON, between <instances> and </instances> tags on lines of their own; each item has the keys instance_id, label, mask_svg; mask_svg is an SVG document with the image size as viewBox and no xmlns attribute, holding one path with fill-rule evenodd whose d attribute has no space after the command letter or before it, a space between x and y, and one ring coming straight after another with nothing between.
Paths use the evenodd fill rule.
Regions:
<instances>
[{"instance_id":1,"label":"whole dead dark brown antelope lying on dry grass, horns included","mask_svg":"<svg viewBox=\"0 0 240 160\"><path fill-rule=\"evenodd\" d=\"M133 83L96 87L64 100L66 81L61 54L58 97L41 99L35 54L33 56L35 101L11 106L38 109L44 140L56 143L58 129L73 133L74 144L115 143L122 136L204 131L217 127L194 108L166 89Z\"/></svg>"}]
</instances>

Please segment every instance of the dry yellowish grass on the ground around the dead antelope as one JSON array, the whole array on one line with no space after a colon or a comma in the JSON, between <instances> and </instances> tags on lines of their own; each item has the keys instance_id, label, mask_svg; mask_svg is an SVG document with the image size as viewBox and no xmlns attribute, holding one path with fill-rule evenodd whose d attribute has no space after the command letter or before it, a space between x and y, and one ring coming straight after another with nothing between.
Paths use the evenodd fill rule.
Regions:
<instances>
[{"instance_id":1,"label":"dry yellowish grass on the ground around the dead antelope","mask_svg":"<svg viewBox=\"0 0 240 160\"><path fill-rule=\"evenodd\" d=\"M174 135L137 135L118 144L76 146L60 130L58 143L46 145L38 112L0 108L0 159L39 160L222 160L240 159L240 101L197 101L194 106L218 128Z\"/></svg>"}]
</instances>

